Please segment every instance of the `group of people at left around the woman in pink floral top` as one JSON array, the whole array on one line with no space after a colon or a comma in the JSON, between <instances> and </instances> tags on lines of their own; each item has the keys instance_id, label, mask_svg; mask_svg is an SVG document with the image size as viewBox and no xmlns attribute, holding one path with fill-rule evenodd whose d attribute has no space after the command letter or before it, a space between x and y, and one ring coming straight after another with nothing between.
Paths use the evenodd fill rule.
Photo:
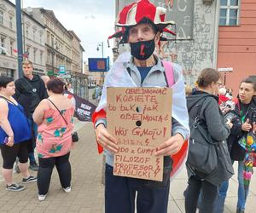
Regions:
<instances>
[{"instance_id":1,"label":"group of people at left around the woman in pink floral top","mask_svg":"<svg viewBox=\"0 0 256 213\"><path fill-rule=\"evenodd\" d=\"M49 191L52 170L56 166L61 187L71 192L70 151L73 148L73 102L63 95L66 88L60 78L33 74L32 62L22 63L24 77L14 81L0 77L0 149L6 190L21 191L25 186L13 180L13 168L23 176L22 183L37 181L38 199ZM34 148L38 153L38 163ZM29 166L28 166L29 159ZM31 176L29 170L38 170Z\"/></svg>"}]
</instances>

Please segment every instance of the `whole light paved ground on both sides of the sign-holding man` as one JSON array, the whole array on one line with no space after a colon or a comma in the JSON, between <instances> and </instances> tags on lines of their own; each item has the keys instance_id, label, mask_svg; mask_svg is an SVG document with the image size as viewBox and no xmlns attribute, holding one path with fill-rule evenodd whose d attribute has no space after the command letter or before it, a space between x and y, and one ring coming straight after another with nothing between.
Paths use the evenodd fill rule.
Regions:
<instances>
[{"instance_id":1,"label":"whole light paved ground on both sides of the sign-holding man","mask_svg":"<svg viewBox=\"0 0 256 213\"><path fill-rule=\"evenodd\" d=\"M18 193L5 190L3 181L0 182L0 213L2 212L104 212L104 187L101 185L102 156L96 152L95 135L91 123L77 123L80 141L71 153L73 172L72 192L67 194L61 190L59 177L54 170L49 194L44 202L38 201L37 184L28 184L26 190ZM0 159L2 165L2 158ZM235 164L235 170L237 166ZM34 173L36 175L36 173ZM15 181L20 182L20 174L14 174ZM187 186L186 170L172 181L168 213L184 211L183 190ZM251 192L247 199L247 213L256 212L256 178L253 176ZM226 199L226 213L236 212L237 201L236 175L230 180L230 188ZM121 213L121 212L120 212ZM157 213L157 212L156 212Z\"/></svg>"}]
</instances>

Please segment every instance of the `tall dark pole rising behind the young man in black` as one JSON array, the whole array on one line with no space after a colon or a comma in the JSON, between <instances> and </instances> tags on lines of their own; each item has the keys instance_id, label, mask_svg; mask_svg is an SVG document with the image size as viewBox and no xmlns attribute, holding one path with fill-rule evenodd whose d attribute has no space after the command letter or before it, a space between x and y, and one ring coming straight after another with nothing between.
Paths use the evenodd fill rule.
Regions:
<instances>
[{"instance_id":1,"label":"tall dark pole rising behind the young man in black","mask_svg":"<svg viewBox=\"0 0 256 213\"><path fill-rule=\"evenodd\" d=\"M17 30L17 48L18 48L18 78L21 78L23 76L23 72L22 72L23 48L22 48L20 0L16 0L16 30Z\"/></svg>"}]
</instances>

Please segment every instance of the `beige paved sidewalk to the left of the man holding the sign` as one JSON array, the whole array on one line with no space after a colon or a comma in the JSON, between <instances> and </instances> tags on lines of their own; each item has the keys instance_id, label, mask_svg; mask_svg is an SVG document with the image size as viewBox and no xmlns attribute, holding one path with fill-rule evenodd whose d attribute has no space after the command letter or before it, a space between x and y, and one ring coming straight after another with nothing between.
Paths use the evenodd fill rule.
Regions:
<instances>
[{"instance_id":1,"label":"beige paved sidewalk to the left of the man holding the sign","mask_svg":"<svg viewBox=\"0 0 256 213\"><path fill-rule=\"evenodd\" d=\"M103 212L102 158L96 152L96 142L91 123L78 123L79 142L71 153L72 192L64 193L54 170L49 193L44 202L38 201L36 183L30 183L21 192L8 192L0 182L0 212ZM3 164L2 158L0 164ZM36 172L32 173L37 175ZM20 174L14 174L20 182Z\"/></svg>"}]
</instances>

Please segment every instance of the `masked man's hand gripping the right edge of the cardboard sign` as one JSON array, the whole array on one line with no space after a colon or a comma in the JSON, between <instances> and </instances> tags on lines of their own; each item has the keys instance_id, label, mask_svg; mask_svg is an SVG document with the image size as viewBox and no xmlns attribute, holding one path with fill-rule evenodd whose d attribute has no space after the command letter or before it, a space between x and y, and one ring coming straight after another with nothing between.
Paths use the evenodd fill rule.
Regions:
<instances>
[{"instance_id":1,"label":"masked man's hand gripping the right edge of the cardboard sign","mask_svg":"<svg viewBox=\"0 0 256 213\"><path fill-rule=\"evenodd\" d=\"M181 147L183 146L183 136L180 134L173 135L171 138L169 138L167 141L160 144L159 147L156 147L156 156L168 156L176 154Z\"/></svg>"}]
</instances>

